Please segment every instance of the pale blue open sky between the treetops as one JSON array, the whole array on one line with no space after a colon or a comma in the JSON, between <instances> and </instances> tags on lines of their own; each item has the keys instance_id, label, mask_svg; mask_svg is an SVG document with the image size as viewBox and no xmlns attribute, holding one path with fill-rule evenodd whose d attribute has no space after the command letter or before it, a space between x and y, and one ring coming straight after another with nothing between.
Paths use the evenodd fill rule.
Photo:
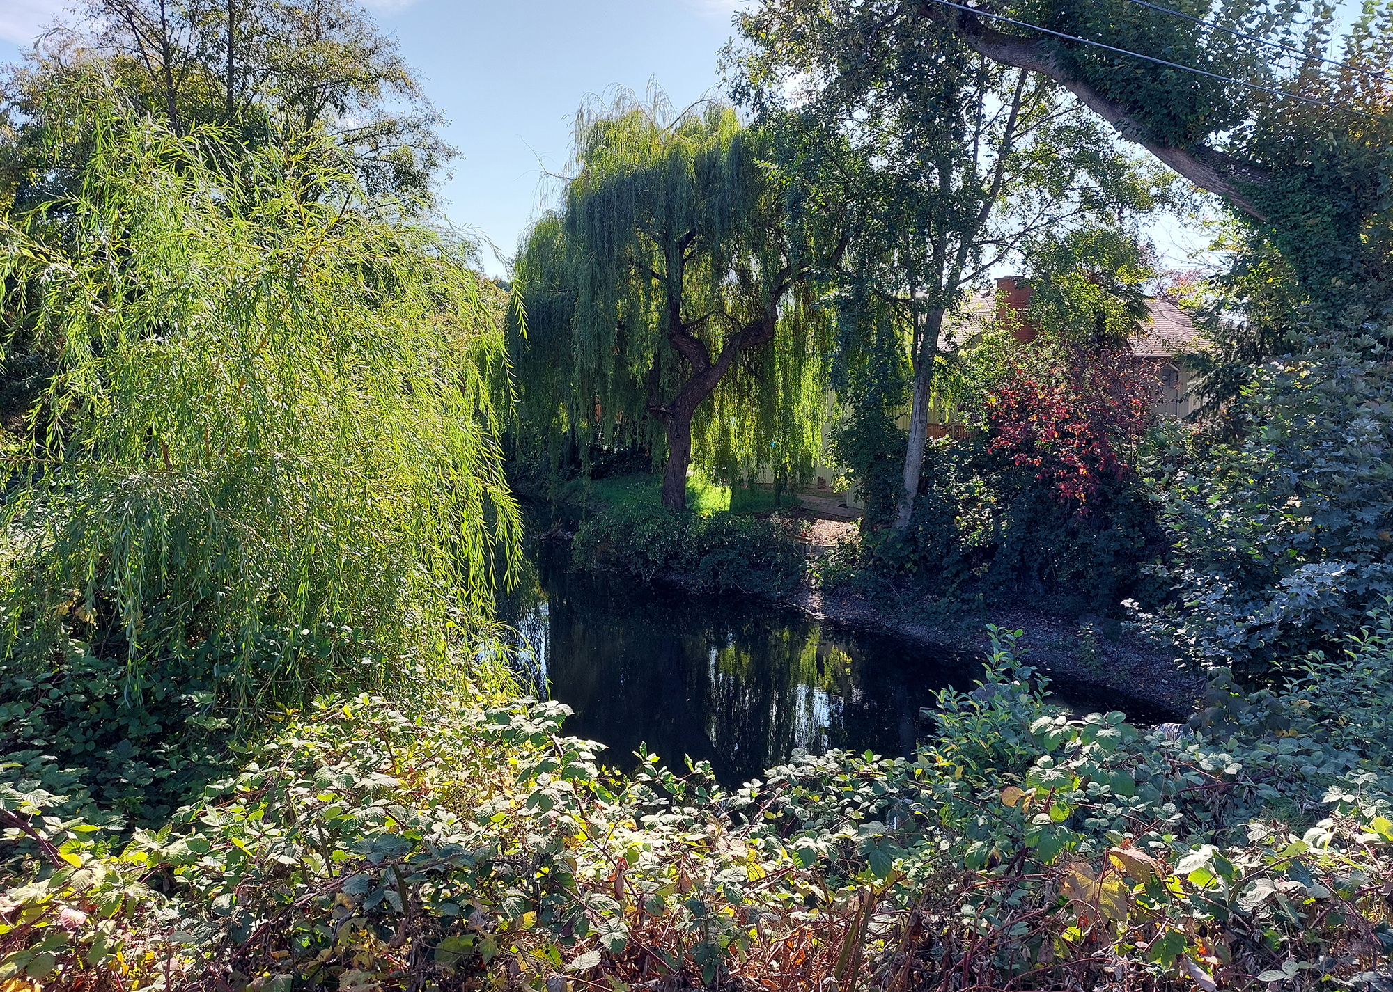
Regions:
<instances>
[{"instance_id":1,"label":"pale blue open sky between the treetops","mask_svg":"<svg viewBox=\"0 0 1393 992\"><path fill-rule=\"evenodd\" d=\"M0 0L0 61L71 0ZM719 92L717 52L738 0L379 0L369 4L425 79L460 149L447 215L507 255L535 216L543 169L564 167L586 95L644 92L684 106ZM503 266L485 249L485 265Z\"/></svg>"}]
</instances>

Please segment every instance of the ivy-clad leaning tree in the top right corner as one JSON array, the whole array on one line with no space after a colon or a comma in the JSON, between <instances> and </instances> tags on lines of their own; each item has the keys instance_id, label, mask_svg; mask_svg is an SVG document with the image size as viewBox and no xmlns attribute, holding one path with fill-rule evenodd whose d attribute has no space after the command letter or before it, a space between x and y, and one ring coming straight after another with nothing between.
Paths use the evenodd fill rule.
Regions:
<instances>
[{"instance_id":1,"label":"ivy-clad leaning tree in the top right corner","mask_svg":"<svg viewBox=\"0 0 1393 992\"><path fill-rule=\"evenodd\" d=\"M1393 4L1364 4L1343 39L1337 22L1325 0L780 0L742 15L747 36L839 75L939 74L914 57L951 38L1060 84L1223 198L1332 313L1393 307Z\"/></svg>"}]
</instances>

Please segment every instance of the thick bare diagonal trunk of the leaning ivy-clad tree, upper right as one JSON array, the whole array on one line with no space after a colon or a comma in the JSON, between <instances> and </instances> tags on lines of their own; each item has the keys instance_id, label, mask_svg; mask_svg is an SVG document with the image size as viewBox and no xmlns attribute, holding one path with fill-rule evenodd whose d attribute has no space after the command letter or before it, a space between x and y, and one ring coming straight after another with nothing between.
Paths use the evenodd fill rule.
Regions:
<instances>
[{"instance_id":1,"label":"thick bare diagonal trunk of the leaning ivy-clad tree, upper right","mask_svg":"<svg viewBox=\"0 0 1393 992\"><path fill-rule=\"evenodd\" d=\"M1243 184L1265 185L1269 183L1270 174L1266 170L1240 162L1208 145L1184 149L1156 141L1123 103L1109 99L1089 84L1075 79L1064 71L1050 50L1049 39L1017 38L993 31L983 26L975 17L940 7L933 0L919 4L919 15L949 26L972 49L992 61L1049 77L1112 124L1123 138L1141 145L1201 189L1223 196L1256 220L1268 220L1268 216L1241 189Z\"/></svg>"}]
</instances>

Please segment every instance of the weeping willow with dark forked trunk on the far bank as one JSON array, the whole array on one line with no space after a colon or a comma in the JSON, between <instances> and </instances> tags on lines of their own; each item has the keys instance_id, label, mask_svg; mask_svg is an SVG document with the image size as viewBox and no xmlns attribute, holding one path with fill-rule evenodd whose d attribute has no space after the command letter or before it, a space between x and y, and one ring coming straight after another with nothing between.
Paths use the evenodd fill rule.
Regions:
<instances>
[{"instance_id":1,"label":"weeping willow with dark forked trunk on the far bank","mask_svg":"<svg viewBox=\"0 0 1393 992\"><path fill-rule=\"evenodd\" d=\"M795 475L816 454L826 322L815 273L840 244L830 222L790 220L804 208L765 164L772 141L727 106L673 116L625 96L582 111L564 205L520 252L524 426L666 450L673 510L685 507L694 457Z\"/></svg>"}]
</instances>

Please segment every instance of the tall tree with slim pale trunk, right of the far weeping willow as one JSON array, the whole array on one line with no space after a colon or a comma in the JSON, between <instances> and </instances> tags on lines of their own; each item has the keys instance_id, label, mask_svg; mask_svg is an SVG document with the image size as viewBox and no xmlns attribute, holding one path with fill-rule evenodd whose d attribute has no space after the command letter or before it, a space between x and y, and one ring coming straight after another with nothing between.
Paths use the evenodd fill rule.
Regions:
<instances>
[{"instance_id":1,"label":"tall tree with slim pale trunk, right of the far weeping willow","mask_svg":"<svg viewBox=\"0 0 1393 992\"><path fill-rule=\"evenodd\" d=\"M814 184L844 187L854 205L843 276L903 326L912 369L894 521L903 531L944 318L1027 241L1152 209L1156 184L1049 81L1006 70L933 24L872 29L847 21L857 13L766 4L741 17L745 43L727 64L737 98L756 110L797 107L816 149L804 157Z\"/></svg>"}]
</instances>

